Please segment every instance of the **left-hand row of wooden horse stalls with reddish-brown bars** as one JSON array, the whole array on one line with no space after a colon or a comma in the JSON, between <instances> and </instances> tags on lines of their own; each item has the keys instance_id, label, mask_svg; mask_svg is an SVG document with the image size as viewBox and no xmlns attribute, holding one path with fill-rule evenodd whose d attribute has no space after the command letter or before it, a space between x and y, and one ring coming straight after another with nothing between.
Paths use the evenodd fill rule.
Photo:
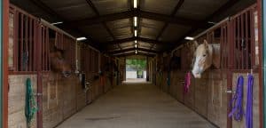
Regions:
<instances>
[{"instance_id":1,"label":"left-hand row of wooden horse stalls with reddish-brown bars","mask_svg":"<svg viewBox=\"0 0 266 128\"><path fill-rule=\"evenodd\" d=\"M9 127L55 127L111 88L98 50L15 5L9 14ZM24 116L27 100L36 116Z\"/></svg>"}]
</instances>

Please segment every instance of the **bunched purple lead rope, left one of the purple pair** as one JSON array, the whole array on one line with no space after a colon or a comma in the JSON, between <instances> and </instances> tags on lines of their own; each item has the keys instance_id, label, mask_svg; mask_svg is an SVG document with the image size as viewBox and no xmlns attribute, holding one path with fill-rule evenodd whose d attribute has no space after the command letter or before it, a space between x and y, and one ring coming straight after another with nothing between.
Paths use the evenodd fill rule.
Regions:
<instances>
[{"instance_id":1,"label":"bunched purple lead rope, left one of the purple pair","mask_svg":"<svg viewBox=\"0 0 266 128\"><path fill-rule=\"evenodd\" d=\"M239 76L238 84L236 88L235 95L231 100L231 106L234 104L234 107L231 110L231 113L228 115L229 117L234 116L236 121L241 121L243 114L243 84L244 78L243 76Z\"/></svg>"}]
</instances>

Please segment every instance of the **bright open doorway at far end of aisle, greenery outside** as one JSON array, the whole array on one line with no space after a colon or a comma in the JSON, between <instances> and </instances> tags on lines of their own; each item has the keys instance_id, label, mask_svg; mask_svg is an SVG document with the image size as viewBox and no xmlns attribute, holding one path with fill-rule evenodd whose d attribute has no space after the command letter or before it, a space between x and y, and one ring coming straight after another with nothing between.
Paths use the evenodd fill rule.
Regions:
<instances>
[{"instance_id":1,"label":"bright open doorway at far end of aisle, greenery outside","mask_svg":"<svg viewBox=\"0 0 266 128\"><path fill-rule=\"evenodd\" d=\"M146 81L147 61L140 59L126 60L126 81Z\"/></svg>"}]
</instances>

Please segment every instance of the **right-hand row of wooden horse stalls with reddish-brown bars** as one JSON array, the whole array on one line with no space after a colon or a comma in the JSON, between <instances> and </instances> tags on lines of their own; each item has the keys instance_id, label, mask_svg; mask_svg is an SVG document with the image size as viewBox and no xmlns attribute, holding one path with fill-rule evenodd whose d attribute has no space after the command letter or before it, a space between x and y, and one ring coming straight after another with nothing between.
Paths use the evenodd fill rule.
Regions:
<instances>
[{"instance_id":1,"label":"right-hand row of wooden horse stalls with reddish-brown bars","mask_svg":"<svg viewBox=\"0 0 266 128\"><path fill-rule=\"evenodd\" d=\"M242 106L246 110L246 102L253 105L253 127L259 127L259 86L262 83L259 81L261 44L258 44L257 26L257 7L254 4L195 36L194 41L177 47L171 53L170 64L166 58L163 60L165 67L176 67L171 70L170 76L163 72L163 81L170 79L168 93L218 127L245 127L244 115L241 121L228 117L235 105L231 100L238 92L238 78L243 76ZM199 53L196 48L206 43L213 49L211 66L201 76L196 74L196 78L192 75L195 65L198 65L196 55ZM156 59L161 60L161 56L158 55ZM158 65L160 61L157 62L157 68ZM157 74L160 73L158 71ZM252 103L246 100L247 91L250 90L246 86L248 75L254 78ZM158 80L156 83L159 83ZM159 88L167 92L165 85L159 85Z\"/></svg>"}]
</instances>

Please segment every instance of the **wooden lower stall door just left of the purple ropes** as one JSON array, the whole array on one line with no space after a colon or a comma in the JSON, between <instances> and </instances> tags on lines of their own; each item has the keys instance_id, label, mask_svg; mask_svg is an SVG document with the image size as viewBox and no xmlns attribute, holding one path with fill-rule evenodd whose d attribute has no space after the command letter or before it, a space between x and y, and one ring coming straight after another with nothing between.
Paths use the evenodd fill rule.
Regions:
<instances>
[{"instance_id":1,"label":"wooden lower stall door just left of the purple ropes","mask_svg":"<svg viewBox=\"0 0 266 128\"><path fill-rule=\"evenodd\" d=\"M207 84L207 119L219 127L227 125L227 76L220 69L209 72Z\"/></svg>"}]
</instances>

